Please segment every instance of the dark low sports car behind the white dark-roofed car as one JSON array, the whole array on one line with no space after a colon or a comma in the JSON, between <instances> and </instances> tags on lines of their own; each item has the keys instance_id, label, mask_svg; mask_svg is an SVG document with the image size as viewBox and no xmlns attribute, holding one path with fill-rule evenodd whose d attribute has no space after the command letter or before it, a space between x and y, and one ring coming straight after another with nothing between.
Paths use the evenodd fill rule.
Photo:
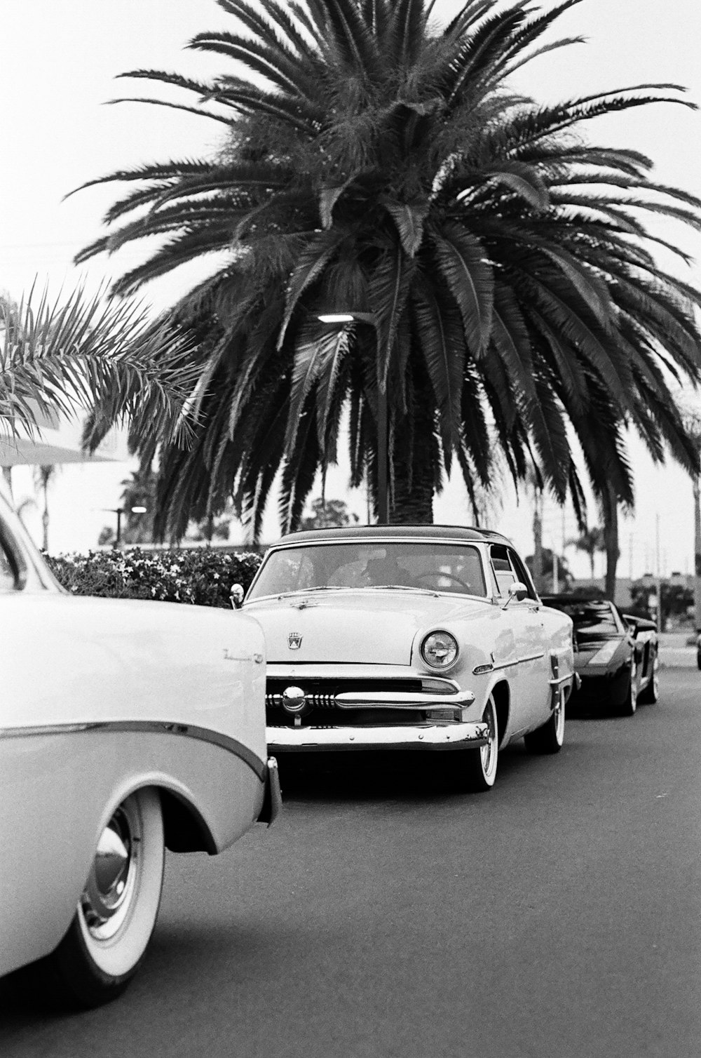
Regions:
<instances>
[{"instance_id":1,"label":"dark low sports car behind the white dark-roofed car","mask_svg":"<svg viewBox=\"0 0 701 1058\"><path fill-rule=\"evenodd\" d=\"M622 614L608 599L546 596L574 622L574 668L582 686L572 705L604 707L632 716L638 704L660 697L658 633L653 621Z\"/></svg>"}]
</instances>

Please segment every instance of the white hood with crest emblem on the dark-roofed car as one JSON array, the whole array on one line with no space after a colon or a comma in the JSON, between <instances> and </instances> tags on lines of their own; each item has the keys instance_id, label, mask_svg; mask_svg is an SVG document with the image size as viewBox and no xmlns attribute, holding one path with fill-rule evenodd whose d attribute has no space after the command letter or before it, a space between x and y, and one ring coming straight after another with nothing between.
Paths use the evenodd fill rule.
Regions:
<instances>
[{"instance_id":1,"label":"white hood with crest emblem on the dark-roofed car","mask_svg":"<svg viewBox=\"0 0 701 1058\"><path fill-rule=\"evenodd\" d=\"M244 609L263 630L269 661L406 665L418 632L478 619L492 607L486 600L363 588L265 599Z\"/></svg>"}]
</instances>

